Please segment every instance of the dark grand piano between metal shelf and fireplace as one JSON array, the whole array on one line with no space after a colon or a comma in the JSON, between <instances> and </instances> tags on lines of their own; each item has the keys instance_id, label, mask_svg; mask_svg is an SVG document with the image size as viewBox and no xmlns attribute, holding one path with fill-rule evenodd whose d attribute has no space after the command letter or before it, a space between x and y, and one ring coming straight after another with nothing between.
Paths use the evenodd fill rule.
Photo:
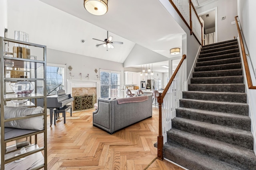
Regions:
<instances>
[{"instance_id":1,"label":"dark grand piano between metal shelf and fireplace","mask_svg":"<svg viewBox=\"0 0 256 170\"><path fill-rule=\"evenodd\" d=\"M56 87L57 88L57 87ZM54 90L56 89L54 88ZM51 91L52 90L48 90ZM49 93L47 93L49 94ZM66 94L65 90L58 90L57 94L47 96L47 108L50 109L50 126L52 126L52 117L53 117L53 109L71 109L72 113L72 105L68 105L68 103L74 101L74 98L71 97L71 94ZM43 106L43 99L38 99L38 106ZM55 122L55 121L54 121Z\"/></svg>"}]
</instances>

